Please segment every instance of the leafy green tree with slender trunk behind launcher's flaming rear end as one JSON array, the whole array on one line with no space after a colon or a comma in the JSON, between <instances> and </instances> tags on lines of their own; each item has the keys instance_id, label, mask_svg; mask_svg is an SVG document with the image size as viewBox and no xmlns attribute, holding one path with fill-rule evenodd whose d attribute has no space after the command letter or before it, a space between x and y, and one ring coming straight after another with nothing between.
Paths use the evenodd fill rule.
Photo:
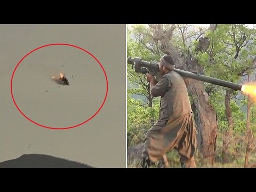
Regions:
<instances>
[{"instance_id":1,"label":"leafy green tree with slender trunk behind launcher's flaming rear end","mask_svg":"<svg viewBox=\"0 0 256 192\"><path fill-rule=\"evenodd\" d=\"M196 57L207 74L238 83L245 74L252 73L256 68L255 29L241 24L218 25L214 33L206 32L205 35L209 37L210 45L205 52L197 53ZM228 163L227 151L235 130L233 114L236 112L236 104L231 99L237 96L237 91L225 90L225 116L228 124L223 138L222 161Z\"/></svg>"}]
</instances>

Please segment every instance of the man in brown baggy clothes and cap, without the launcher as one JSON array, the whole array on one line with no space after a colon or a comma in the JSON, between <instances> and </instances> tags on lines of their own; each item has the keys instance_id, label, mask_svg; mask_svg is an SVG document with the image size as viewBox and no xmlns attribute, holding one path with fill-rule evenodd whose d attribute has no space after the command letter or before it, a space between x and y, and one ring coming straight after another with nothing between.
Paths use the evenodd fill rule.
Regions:
<instances>
[{"instance_id":1,"label":"man in brown baggy clothes and cap, without the launcher","mask_svg":"<svg viewBox=\"0 0 256 192\"><path fill-rule=\"evenodd\" d=\"M158 122L153 125L145 137L145 149L142 153L142 167L163 158L167 151L177 149L182 167L196 167L196 129L187 87L181 75L173 69L175 63L170 55L160 59L159 71L162 77L156 81L147 75L150 93L161 97Z\"/></svg>"}]
</instances>

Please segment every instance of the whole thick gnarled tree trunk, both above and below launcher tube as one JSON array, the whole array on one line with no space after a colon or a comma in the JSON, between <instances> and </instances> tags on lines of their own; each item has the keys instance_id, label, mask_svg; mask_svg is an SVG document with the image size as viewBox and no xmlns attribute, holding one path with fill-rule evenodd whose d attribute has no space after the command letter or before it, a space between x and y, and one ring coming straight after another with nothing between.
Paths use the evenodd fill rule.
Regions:
<instances>
[{"instance_id":1,"label":"whole thick gnarled tree trunk, both above and below launcher tube","mask_svg":"<svg viewBox=\"0 0 256 192\"><path fill-rule=\"evenodd\" d=\"M153 39L160 41L160 49L163 53L172 55L175 60L175 68L200 73L202 67L196 61L185 60L180 57L177 49L172 45L171 38L174 27L163 30L163 25L149 25L153 29ZM209 46L209 44L208 44ZM203 155L203 164L213 164L215 141L217 138L216 113L209 102L209 95L205 92L203 82L194 79L185 79L188 93L194 98L194 116L197 126L197 146Z\"/></svg>"}]
</instances>

